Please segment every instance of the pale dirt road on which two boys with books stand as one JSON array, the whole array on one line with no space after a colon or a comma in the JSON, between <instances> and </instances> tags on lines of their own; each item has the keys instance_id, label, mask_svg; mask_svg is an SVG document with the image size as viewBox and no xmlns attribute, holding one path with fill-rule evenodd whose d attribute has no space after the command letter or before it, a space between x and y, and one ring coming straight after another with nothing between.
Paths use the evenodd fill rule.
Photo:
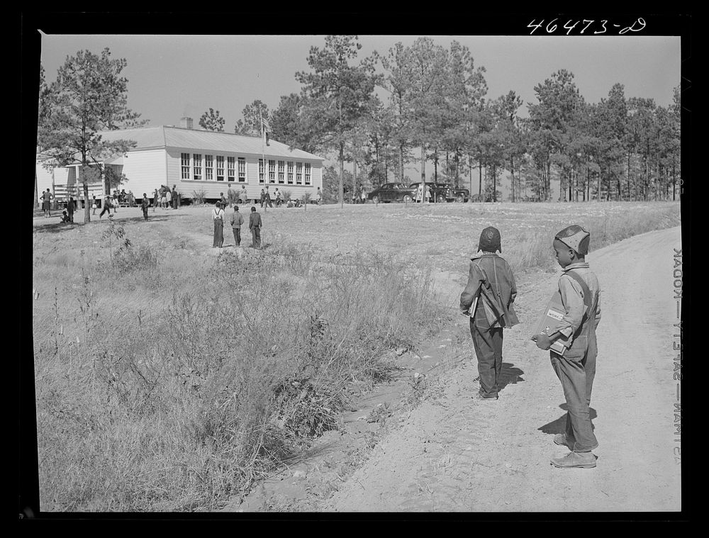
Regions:
<instances>
[{"instance_id":1,"label":"pale dirt road on which two boys with books stand","mask_svg":"<svg viewBox=\"0 0 709 538\"><path fill-rule=\"evenodd\" d=\"M562 431L564 396L548 352L529 336L557 272L520 290L520 325L505 335L507 384L499 400L471 400L478 383L468 342L471 359L443 374L440 395L403 417L317 510L680 510L674 249L681 249L680 228L638 235L587 257L603 290L591 401L600 443L595 469L549 464L566 452L552 442ZM462 289L464 282L452 284ZM454 332L467 334L465 318Z\"/></svg>"}]
</instances>

